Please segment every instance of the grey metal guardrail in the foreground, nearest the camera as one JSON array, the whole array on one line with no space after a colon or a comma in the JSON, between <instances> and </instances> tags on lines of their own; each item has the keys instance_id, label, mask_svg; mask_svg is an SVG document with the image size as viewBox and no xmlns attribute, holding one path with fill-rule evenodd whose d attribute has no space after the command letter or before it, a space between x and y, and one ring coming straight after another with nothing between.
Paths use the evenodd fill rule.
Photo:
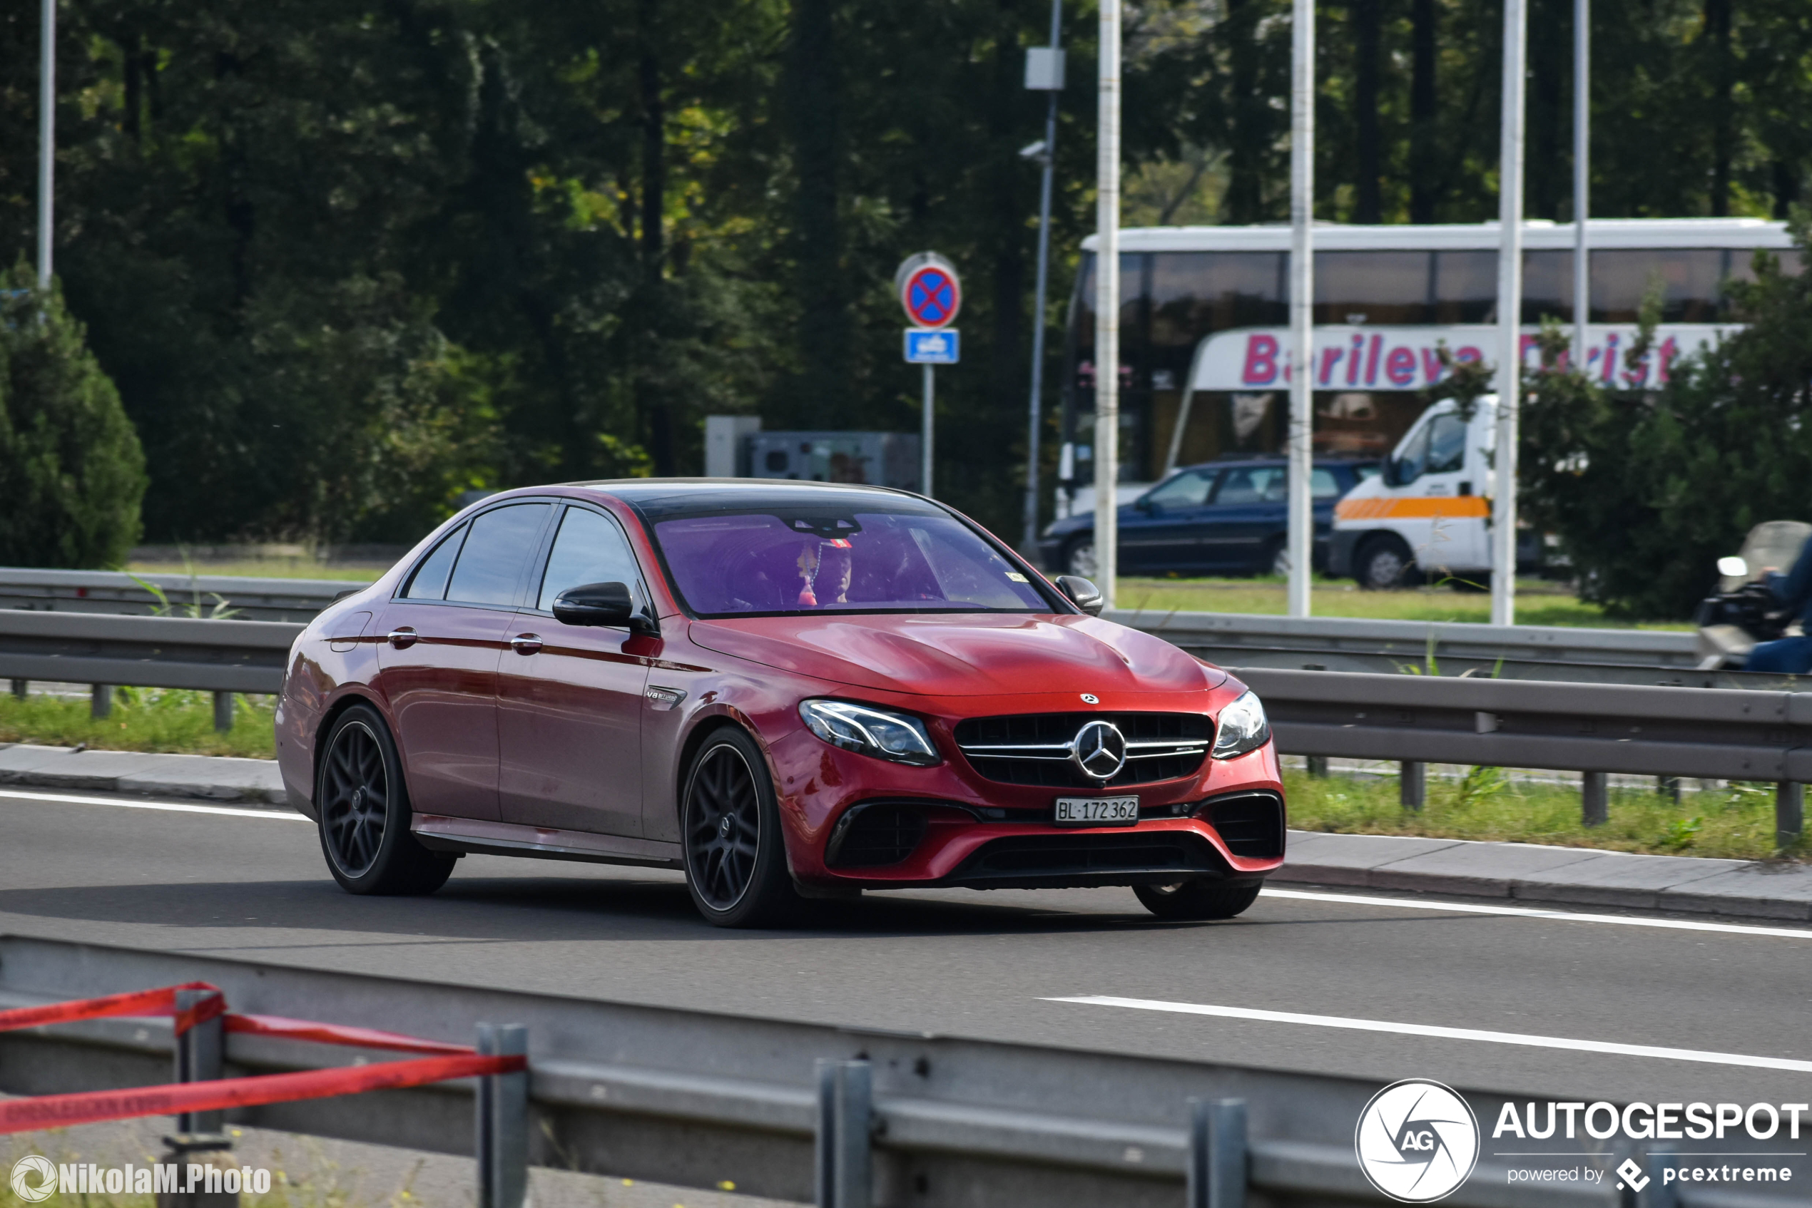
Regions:
<instances>
[{"instance_id":1,"label":"grey metal guardrail in the foreground, nearest the camera","mask_svg":"<svg viewBox=\"0 0 1812 1208\"><path fill-rule=\"evenodd\" d=\"M475 1020L529 1038L529 1161L683 1186L812 1201L824 1208L1040 1204L1190 1208L1383 1204L1354 1155L1354 1127L1379 1088L1359 1078L1229 1063L1047 1049L933 1034L824 1027L596 1000L404 982L87 944L0 938L0 1005L205 978L243 1011L458 1040ZM344 1065L274 1036L228 1034L223 1072ZM80 1081L163 1076L169 1027L96 1020L0 1036L0 1088L38 1094ZM824 1065L828 1063L828 1065ZM1511 1096L1466 1090L1480 1121ZM1526 1099L1529 1096L1518 1096ZM866 1101L864 1101L866 1099ZM1203 1107L1192 1110L1190 1101ZM1239 1112L1225 1101L1243 1103ZM234 1123L429 1152L462 1152L469 1085L332 1103L248 1108ZM1218 1134L1205 1137L1203 1134ZM1243 1134L1243 1136L1241 1136ZM1600 1170L1640 1155L1555 1141ZM1622 1143L1627 1145L1627 1143ZM1725 1148L1745 1141L1725 1143ZM1678 1146L1672 1146L1678 1148ZM1190 1159L1196 1177L1185 1181ZM1649 1168L1669 1161L1645 1157ZM863 1166L868 1175L863 1177ZM1596 1184L1511 1183L1486 1155L1453 1208L1616 1208ZM1209 1188L1218 1186L1210 1195ZM1636 1203L1738 1208L1660 1177ZM1662 1199L1662 1195L1678 1199Z\"/></svg>"}]
</instances>

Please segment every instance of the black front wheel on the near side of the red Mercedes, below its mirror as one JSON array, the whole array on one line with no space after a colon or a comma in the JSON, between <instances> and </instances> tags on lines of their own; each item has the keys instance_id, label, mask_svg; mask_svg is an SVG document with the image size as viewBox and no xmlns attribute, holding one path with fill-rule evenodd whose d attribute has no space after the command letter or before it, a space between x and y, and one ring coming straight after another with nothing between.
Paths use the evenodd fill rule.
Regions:
<instances>
[{"instance_id":1,"label":"black front wheel on the near side of the red Mercedes, below its mirror","mask_svg":"<svg viewBox=\"0 0 1812 1208\"><path fill-rule=\"evenodd\" d=\"M692 906L712 925L766 927L799 906L774 777L743 730L718 730L692 757L680 801L680 846Z\"/></svg>"}]
</instances>

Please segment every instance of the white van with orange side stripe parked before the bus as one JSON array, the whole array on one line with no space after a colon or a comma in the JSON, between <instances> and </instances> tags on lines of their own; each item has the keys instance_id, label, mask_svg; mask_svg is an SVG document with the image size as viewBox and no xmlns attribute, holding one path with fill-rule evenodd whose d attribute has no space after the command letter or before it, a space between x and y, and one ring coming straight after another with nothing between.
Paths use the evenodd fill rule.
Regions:
<instances>
[{"instance_id":1,"label":"white van with orange side stripe parked before the bus","mask_svg":"<svg viewBox=\"0 0 1812 1208\"><path fill-rule=\"evenodd\" d=\"M1422 411L1384 462L1334 507L1328 572L1386 589L1415 580L1491 581L1491 449L1497 395L1473 404L1471 422L1453 398ZM1517 570L1538 565L1533 531L1517 540Z\"/></svg>"}]
</instances>

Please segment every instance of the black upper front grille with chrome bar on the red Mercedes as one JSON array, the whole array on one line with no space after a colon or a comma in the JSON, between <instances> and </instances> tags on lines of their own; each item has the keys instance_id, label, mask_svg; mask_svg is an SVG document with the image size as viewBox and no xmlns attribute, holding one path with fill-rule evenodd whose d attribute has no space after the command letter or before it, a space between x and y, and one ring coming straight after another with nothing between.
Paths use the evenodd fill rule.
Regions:
<instances>
[{"instance_id":1,"label":"black upper front grille with chrome bar on the red Mercedes","mask_svg":"<svg viewBox=\"0 0 1812 1208\"><path fill-rule=\"evenodd\" d=\"M1091 721L1111 721L1127 739L1127 762L1113 781L1085 777L1069 744ZM1018 714L957 723L957 746L980 775L1040 788L1125 788L1192 775L1209 757L1214 719L1203 714Z\"/></svg>"}]
</instances>

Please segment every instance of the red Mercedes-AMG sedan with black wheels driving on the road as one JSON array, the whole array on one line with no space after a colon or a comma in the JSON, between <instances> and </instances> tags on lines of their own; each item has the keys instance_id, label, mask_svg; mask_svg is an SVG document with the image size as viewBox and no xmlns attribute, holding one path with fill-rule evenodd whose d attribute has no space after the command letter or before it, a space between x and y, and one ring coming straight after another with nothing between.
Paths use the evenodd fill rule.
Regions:
<instances>
[{"instance_id":1,"label":"red Mercedes-AMG sedan with black wheels driving on the road","mask_svg":"<svg viewBox=\"0 0 1812 1208\"><path fill-rule=\"evenodd\" d=\"M861 889L1283 862L1258 697L902 491L627 480L477 503L290 652L277 755L352 893L467 851L683 869L721 925Z\"/></svg>"}]
</instances>

